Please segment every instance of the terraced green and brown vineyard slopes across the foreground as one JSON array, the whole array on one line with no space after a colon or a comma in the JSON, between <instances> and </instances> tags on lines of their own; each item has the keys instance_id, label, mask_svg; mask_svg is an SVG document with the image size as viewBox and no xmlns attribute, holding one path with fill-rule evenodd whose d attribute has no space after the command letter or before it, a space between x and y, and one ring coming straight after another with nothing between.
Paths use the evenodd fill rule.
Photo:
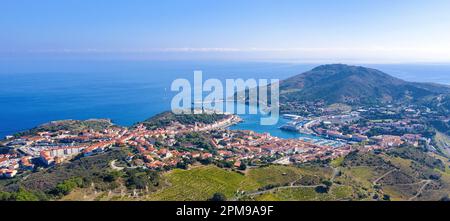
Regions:
<instances>
[{"instance_id":1,"label":"terraced green and brown vineyard slopes across the foreground","mask_svg":"<svg viewBox=\"0 0 450 221\"><path fill-rule=\"evenodd\" d=\"M156 190L77 189L67 199L197 201L222 193L227 200L250 201L440 200L450 193L449 166L448 159L415 149L352 153L330 163L269 165L245 173L197 166L160 174Z\"/></svg>"}]
</instances>

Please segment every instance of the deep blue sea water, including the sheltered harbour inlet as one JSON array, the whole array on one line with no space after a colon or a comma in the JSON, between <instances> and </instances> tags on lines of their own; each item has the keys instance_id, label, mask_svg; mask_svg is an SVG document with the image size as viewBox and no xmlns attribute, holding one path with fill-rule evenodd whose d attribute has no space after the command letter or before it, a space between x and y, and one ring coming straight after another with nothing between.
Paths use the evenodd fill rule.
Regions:
<instances>
[{"instance_id":1,"label":"deep blue sea water, including the sheltered harbour inlet","mask_svg":"<svg viewBox=\"0 0 450 221\"><path fill-rule=\"evenodd\" d=\"M132 125L170 109L177 78L285 79L316 64L262 62L0 61L0 137L61 119L109 118ZM410 81L450 84L450 65L367 65ZM235 129L294 138L244 115ZM284 123L281 119L279 124Z\"/></svg>"}]
</instances>

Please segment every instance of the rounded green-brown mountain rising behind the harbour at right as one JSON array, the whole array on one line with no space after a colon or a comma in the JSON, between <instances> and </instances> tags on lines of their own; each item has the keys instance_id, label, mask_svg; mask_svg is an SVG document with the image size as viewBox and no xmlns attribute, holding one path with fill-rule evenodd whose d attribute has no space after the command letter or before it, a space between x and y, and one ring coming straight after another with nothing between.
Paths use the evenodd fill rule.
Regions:
<instances>
[{"instance_id":1,"label":"rounded green-brown mountain rising behind the harbour at right","mask_svg":"<svg viewBox=\"0 0 450 221\"><path fill-rule=\"evenodd\" d=\"M281 81L280 93L282 102L380 104L432 99L450 94L450 87L407 82L371 68L332 64Z\"/></svg>"}]
</instances>

